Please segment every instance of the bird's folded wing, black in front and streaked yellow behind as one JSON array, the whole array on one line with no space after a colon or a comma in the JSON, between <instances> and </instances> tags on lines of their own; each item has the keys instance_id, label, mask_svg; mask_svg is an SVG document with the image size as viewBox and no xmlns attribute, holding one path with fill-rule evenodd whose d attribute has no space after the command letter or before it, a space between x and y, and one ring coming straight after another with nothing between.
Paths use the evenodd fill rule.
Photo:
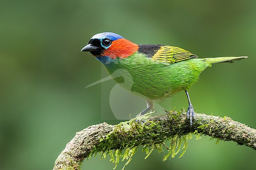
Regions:
<instances>
[{"instance_id":1,"label":"bird's folded wing, black in front and streaked yellow behind","mask_svg":"<svg viewBox=\"0 0 256 170\"><path fill-rule=\"evenodd\" d=\"M146 54L147 57L152 60L168 62L169 64L198 57L197 55L179 47L156 44L139 45L138 51Z\"/></svg>"}]
</instances>

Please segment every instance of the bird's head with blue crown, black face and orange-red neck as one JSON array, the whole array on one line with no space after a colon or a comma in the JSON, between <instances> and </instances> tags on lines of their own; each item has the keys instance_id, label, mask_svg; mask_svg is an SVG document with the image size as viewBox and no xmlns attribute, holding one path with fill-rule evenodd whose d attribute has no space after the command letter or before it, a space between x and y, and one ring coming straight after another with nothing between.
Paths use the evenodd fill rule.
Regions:
<instances>
[{"instance_id":1,"label":"bird's head with blue crown, black face and orange-red neck","mask_svg":"<svg viewBox=\"0 0 256 170\"><path fill-rule=\"evenodd\" d=\"M94 35L81 51L89 51L98 60L101 58L126 58L134 54L139 46L116 33L98 33Z\"/></svg>"}]
</instances>

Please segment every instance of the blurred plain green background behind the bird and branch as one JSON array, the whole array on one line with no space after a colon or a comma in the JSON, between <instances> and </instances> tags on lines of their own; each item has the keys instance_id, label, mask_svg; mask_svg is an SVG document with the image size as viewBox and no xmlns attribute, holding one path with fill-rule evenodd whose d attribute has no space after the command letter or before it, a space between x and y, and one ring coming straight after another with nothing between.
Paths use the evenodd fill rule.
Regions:
<instances>
[{"instance_id":1,"label":"blurred plain green background behind the bird and branch","mask_svg":"<svg viewBox=\"0 0 256 170\"><path fill-rule=\"evenodd\" d=\"M102 95L109 96L113 80L84 88L107 73L92 55L80 50L93 35L106 31L138 44L182 47L202 58L248 55L206 69L190 97L200 113L227 115L256 128L255 9L253 0L2 0L0 169L52 169L76 132L103 121L120 122L105 116L113 116L109 105L125 102L125 112L132 117L145 108L143 99L118 87L110 96L112 103L102 100ZM187 108L186 95L178 93L161 105L167 110ZM234 142L216 145L209 139L194 137L184 157L164 163L163 154L154 151L144 160L145 153L139 151L126 170L256 168L255 150ZM109 158L83 163L91 170L113 167Z\"/></svg>"}]
</instances>

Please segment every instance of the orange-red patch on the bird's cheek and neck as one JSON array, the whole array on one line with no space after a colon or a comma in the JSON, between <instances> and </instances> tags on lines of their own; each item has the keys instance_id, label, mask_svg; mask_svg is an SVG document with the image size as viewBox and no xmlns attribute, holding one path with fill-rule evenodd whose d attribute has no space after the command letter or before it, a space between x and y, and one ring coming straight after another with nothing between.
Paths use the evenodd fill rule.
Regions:
<instances>
[{"instance_id":1,"label":"orange-red patch on the bird's cheek and neck","mask_svg":"<svg viewBox=\"0 0 256 170\"><path fill-rule=\"evenodd\" d=\"M105 49L102 56L109 56L112 59L117 57L126 58L138 51L139 46L129 40L120 38L112 42L108 49Z\"/></svg>"}]
</instances>

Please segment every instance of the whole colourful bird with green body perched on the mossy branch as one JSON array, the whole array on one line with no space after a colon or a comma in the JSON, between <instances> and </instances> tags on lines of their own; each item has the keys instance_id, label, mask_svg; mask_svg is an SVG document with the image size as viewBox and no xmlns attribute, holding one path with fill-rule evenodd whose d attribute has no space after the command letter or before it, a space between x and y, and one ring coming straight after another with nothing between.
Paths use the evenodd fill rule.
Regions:
<instances>
[{"instance_id":1,"label":"whole colourful bird with green body perched on the mossy branch","mask_svg":"<svg viewBox=\"0 0 256 170\"><path fill-rule=\"evenodd\" d=\"M190 126L196 117L188 90L197 82L200 73L215 63L247 58L198 58L176 46L135 44L111 32L94 35L81 51L90 52L120 86L146 100L147 108L139 115L154 111L154 102L185 91Z\"/></svg>"}]
</instances>

